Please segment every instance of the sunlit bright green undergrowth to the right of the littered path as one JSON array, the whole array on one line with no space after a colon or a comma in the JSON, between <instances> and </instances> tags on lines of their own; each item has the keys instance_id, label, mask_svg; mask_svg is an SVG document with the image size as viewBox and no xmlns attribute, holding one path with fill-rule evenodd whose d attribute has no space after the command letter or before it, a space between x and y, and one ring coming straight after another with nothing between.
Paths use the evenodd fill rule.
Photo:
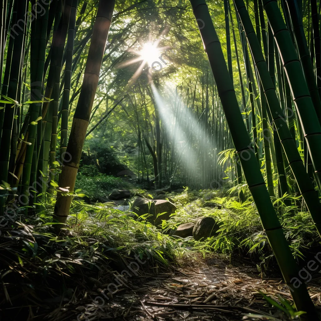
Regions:
<instances>
[{"instance_id":1,"label":"sunlit bright green undergrowth to the right of the littered path","mask_svg":"<svg viewBox=\"0 0 321 321\"><path fill-rule=\"evenodd\" d=\"M169 231L183 223L195 223L199 218L210 216L220 225L218 235L204 241L196 241L192 237L178 239L183 248L191 248L204 256L218 252L222 254L239 254L249 256L258 263L258 270L264 272L273 258L273 253L263 230L260 217L253 199L241 203L238 196L231 196L236 189L230 191L205 190L193 193L187 191L181 195L170 195L178 205L176 214L163 222L162 228ZM319 237L314 228L311 216L299 205L300 197L285 195L273 198L273 205L282 224L292 253L303 259L308 248L319 246ZM291 206L286 206L287 202ZM298 205L297 205L298 203Z\"/></svg>"}]
</instances>

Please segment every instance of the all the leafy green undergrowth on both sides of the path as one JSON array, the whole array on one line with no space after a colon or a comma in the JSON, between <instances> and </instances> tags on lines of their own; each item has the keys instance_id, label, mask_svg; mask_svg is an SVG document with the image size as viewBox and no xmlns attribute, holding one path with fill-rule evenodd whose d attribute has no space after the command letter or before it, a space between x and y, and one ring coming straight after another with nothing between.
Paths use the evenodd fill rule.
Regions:
<instances>
[{"instance_id":1,"label":"all the leafy green undergrowth on both sides of the path","mask_svg":"<svg viewBox=\"0 0 321 321\"><path fill-rule=\"evenodd\" d=\"M94 190L88 182L90 178L85 179ZM118 182L107 176L101 179L113 187ZM138 191L152 197L147 191ZM85 189L82 192L88 193ZM115 273L128 270L130 262L137 263L137 258L138 262L147 262L139 263L138 274L144 275L166 269L186 256L237 253L250 256L264 275L274 256L253 200L248 197L240 203L237 195L237 189L190 191L186 188L180 194L168 193L178 209L168 221L163 221L162 229L156 229L144 216L134 219L133 213L117 210L112 203L88 205L74 200L68 234L59 237L52 223L53 199L36 215L25 214L21 208L17 221L1 229L0 308L9 302L16 309L4 309L5 315L14 311L14 317L10 315L12 319L28 319L28 307L39 306L37 316L56 311L51 312L49 319L61 320L63 309L55 310L57 304L61 307L64 300L70 304L83 297L93 300L100 287L112 282ZM286 206L289 201L291 206ZM319 246L310 215L300 207L300 202L300 197L288 195L273 199L286 238L298 259L306 255L308 248ZM204 241L168 235L178 225L196 222L204 216L213 217L220 225L218 235Z\"/></svg>"}]
</instances>

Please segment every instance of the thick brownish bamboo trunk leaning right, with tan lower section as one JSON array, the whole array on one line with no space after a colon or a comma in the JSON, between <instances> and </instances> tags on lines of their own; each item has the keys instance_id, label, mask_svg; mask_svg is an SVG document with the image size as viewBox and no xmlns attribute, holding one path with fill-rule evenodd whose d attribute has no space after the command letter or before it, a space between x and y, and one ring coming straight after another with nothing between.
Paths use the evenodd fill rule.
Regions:
<instances>
[{"instance_id":1,"label":"thick brownish bamboo trunk leaning right, with tan lower section","mask_svg":"<svg viewBox=\"0 0 321 321\"><path fill-rule=\"evenodd\" d=\"M85 141L91 109L97 90L102 58L105 52L114 6L115 0L100 0L99 2L82 82L82 89L74 114L67 151L65 155L62 155L64 166L59 185L62 188L68 187L70 194L74 191L82 147ZM54 219L57 222L66 223L71 200L71 195L58 193L54 209Z\"/></svg>"}]
</instances>

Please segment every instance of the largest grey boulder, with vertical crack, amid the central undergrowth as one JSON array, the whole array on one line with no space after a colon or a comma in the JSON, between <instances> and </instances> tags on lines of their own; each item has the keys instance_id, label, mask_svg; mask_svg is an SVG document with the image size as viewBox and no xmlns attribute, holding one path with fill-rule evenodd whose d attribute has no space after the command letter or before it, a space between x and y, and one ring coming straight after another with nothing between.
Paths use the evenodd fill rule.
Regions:
<instances>
[{"instance_id":1,"label":"largest grey boulder, with vertical crack, amid the central undergrowth","mask_svg":"<svg viewBox=\"0 0 321 321\"><path fill-rule=\"evenodd\" d=\"M149 202L150 208L148 204ZM149 216L147 220L155 226L159 226L162 223L162 220L168 220L170 214L175 213L176 209L177 207L169 201L149 200L142 197L137 197L131 207L132 212L136 213L139 216L150 213L152 216ZM160 213L164 214L157 217L157 215Z\"/></svg>"}]
</instances>

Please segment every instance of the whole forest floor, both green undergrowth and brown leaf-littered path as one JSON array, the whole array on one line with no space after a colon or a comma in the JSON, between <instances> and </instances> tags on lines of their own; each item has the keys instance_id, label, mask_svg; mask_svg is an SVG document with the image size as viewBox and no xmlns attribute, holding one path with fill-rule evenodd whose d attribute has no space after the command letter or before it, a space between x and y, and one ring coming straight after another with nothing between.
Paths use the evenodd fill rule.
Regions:
<instances>
[{"instance_id":1,"label":"whole forest floor, both green undergrowth and brown leaf-littered path","mask_svg":"<svg viewBox=\"0 0 321 321\"><path fill-rule=\"evenodd\" d=\"M137 192L154 196L152 191ZM292 302L255 207L224 193L167 194L178 211L163 230L147 228L112 203L76 200L70 235L60 238L50 226L52 205L40 215L20 217L1 236L0 321L290 320L259 292ZM319 248L316 233L301 228L309 226L309 216L287 216L279 208L304 266L304 256L313 256ZM219 235L205 241L168 235L173 227L204 216L223 224ZM311 253L303 251L308 242ZM135 253L142 254L139 260ZM138 270L133 262L139 263ZM130 272L131 264L137 273ZM315 273L308 288L321 312L320 282Z\"/></svg>"}]
</instances>

